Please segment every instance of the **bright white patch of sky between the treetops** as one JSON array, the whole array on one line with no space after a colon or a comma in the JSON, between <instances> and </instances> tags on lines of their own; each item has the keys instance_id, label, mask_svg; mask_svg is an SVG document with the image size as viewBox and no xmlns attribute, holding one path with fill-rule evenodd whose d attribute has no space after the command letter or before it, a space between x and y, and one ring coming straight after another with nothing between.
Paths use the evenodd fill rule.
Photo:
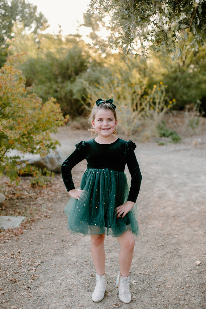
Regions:
<instances>
[{"instance_id":1,"label":"bright white patch of sky between the treetops","mask_svg":"<svg viewBox=\"0 0 206 309\"><path fill-rule=\"evenodd\" d=\"M78 22L83 21L83 13L88 9L90 0L29 0L29 2L37 5L37 12L42 12L48 19L50 28L48 32L57 33L58 24L63 30L62 34L74 34ZM82 29L84 28L84 29ZM86 35L90 28L82 27L81 35Z\"/></svg>"}]
</instances>

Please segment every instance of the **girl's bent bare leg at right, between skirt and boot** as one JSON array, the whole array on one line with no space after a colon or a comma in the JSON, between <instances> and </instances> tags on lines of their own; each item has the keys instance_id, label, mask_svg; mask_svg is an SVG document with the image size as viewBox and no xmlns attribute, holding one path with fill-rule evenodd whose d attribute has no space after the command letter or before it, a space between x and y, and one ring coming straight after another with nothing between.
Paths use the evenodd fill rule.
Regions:
<instances>
[{"instance_id":1,"label":"girl's bent bare leg at right, between skirt and boot","mask_svg":"<svg viewBox=\"0 0 206 309\"><path fill-rule=\"evenodd\" d=\"M119 254L120 273L123 277L128 277L129 269L132 264L135 239L132 231L127 231L120 237L117 237L117 239L121 246Z\"/></svg>"}]
</instances>

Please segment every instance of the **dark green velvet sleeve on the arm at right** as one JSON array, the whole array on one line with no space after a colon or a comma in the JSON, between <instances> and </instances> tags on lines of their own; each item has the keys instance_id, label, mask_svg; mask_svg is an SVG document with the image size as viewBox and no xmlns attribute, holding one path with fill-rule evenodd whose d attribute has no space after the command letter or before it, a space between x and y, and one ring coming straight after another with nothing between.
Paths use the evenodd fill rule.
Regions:
<instances>
[{"instance_id":1,"label":"dark green velvet sleeve on the arm at right","mask_svg":"<svg viewBox=\"0 0 206 309\"><path fill-rule=\"evenodd\" d=\"M131 179L131 187L128 195L128 201L136 202L137 196L140 192L140 185L142 180L141 171L139 168L139 164L137 162L136 155L134 153L134 149L136 145L132 141L128 141L125 147L125 157L126 163L132 177Z\"/></svg>"}]
</instances>

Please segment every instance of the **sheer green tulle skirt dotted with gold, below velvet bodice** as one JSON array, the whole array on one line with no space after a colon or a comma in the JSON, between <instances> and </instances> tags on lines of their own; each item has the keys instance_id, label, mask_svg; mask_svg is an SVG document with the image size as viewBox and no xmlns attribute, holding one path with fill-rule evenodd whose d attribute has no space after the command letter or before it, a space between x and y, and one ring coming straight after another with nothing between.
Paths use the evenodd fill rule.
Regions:
<instances>
[{"instance_id":1,"label":"sheer green tulle skirt dotted with gold, below velvet bodice","mask_svg":"<svg viewBox=\"0 0 206 309\"><path fill-rule=\"evenodd\" d=\"M124 218L116 218L117 207L127 201L130 190L130 180L124 172L86 169L80 188L83 191L79 199L71 197L64 210L72 234L139 234L136 203Z\"/></svg>"}]
</instances>

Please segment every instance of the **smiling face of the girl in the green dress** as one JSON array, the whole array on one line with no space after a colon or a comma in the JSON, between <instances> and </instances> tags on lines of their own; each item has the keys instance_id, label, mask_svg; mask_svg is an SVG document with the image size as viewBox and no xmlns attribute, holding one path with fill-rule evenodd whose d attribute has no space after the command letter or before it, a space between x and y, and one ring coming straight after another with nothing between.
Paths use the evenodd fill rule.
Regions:
<instances>
[{"instance_id":1,"label":"smiling face of the girl in the green dress","mask_svg":"<svg viewBox=\"0 0 206 309\"><path fill-rule=\"evenodd\" d=\"M96 112L95 120L91 123L99 135L107 137L115 131L117 126L117 119L115 120L112 111L100 109L98 112Z\"/></svg>"}]
</instances>

